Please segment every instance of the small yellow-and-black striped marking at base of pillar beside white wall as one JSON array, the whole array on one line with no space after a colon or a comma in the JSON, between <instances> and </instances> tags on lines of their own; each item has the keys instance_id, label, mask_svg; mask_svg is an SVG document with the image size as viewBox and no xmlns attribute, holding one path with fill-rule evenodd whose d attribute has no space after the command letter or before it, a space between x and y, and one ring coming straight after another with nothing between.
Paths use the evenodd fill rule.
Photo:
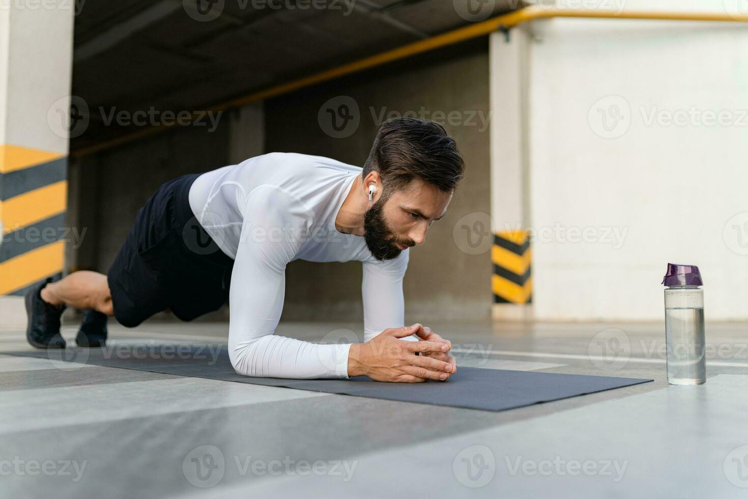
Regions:
<instances>
[{"instance_id":1,"label":"small yellow-and-black striped marking at base of pillar beside white wall","mask_svg":"<svg viewBox=\"0 0 748 499\"><path fill-rule=\"evenodd\" d=\"M530 233L527 230L497 232L491 248L494 303L527 304L533 299L530 275Z\"/></svg>"}]
</instances>

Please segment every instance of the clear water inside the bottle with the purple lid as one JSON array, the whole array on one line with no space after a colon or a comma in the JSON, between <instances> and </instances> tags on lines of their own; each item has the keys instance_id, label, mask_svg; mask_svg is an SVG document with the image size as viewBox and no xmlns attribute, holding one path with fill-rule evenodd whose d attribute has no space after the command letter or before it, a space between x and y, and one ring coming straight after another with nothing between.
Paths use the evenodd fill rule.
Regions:
<instances>
[{"instance_id":1,"label":"clear water inside the bottle with the purple lid","mask_svg":"<svg viewBox=\"0 0 748 499\"><path fill-rule=\"evenodd\" d=\"M674 385L706 382L704 308L666 308L667 380Z\"/></svg>"}]
</instances>

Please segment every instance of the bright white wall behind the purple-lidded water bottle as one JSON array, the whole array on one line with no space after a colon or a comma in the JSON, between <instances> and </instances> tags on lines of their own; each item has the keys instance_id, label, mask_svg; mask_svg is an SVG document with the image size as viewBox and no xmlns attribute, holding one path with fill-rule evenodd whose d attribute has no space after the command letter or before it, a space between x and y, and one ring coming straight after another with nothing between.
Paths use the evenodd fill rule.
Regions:
<instances>
[{"instance_id":1,"label":"bright white wall behind the purple-lidded water bottle","mask_svg":"<svg viewBox=\"0 0 748 499\"><path fill-rule=\"evenodd\" d=\"M748 25L551 19L531 29L530 224L545 230L533 241L536 318L660 319L673 262L701 268L708 319L748 319ZM612 124L614 104L623 119L606 132L598 108ZM692 107L725 111L731 124L646 123ZM619 248L613 234L569 242L554 227L625 237Z\"/></svg>"}]
</instances>

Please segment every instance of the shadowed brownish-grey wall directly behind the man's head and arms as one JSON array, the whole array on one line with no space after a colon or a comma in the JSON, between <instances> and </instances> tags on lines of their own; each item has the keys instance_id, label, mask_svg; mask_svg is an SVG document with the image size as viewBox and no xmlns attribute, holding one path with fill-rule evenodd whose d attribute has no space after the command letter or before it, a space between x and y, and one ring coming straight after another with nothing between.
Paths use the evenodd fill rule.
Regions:
<instances>
[{"instance_id":1,"label":"shadowed brownish-grey wall directly behind the man's head and arms","mask_svg":"<svg viewBox=\"0 0 748 499\"><path fill-rule=\"evenodd\" d=\"M382 117L410 111L446 122L465 156L466 178L448 215L411 250L408 320L476 319L491 312L488 249L468 254L453 236L463 216L490 209L487 49L483 39L266 102L268 152L318 154L353 165L364 164ZM335 113L341 104L353 118L337 132L326 110ZM284 318L361 318L360 263L294 262L286 275Z\"/></svg>"}]
</instances>

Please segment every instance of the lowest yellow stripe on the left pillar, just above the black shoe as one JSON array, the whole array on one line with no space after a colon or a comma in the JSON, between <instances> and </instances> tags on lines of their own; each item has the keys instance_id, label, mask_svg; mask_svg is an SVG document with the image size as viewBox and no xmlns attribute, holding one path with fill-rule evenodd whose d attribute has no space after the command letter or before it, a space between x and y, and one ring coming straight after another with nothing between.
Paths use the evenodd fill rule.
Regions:
<instances>
[{"instance_id":1,"label":"lowest yellow stripe on the left pillar, just above the black shoe","mask_svg":"<svg viewBox=\"0 0 748 499\"><path fill-rule=\"evenodd\" d=\"M62 272L64 241L52 242L0 263L0 295L6 295Z\"/></svg>"}]
</instances>

